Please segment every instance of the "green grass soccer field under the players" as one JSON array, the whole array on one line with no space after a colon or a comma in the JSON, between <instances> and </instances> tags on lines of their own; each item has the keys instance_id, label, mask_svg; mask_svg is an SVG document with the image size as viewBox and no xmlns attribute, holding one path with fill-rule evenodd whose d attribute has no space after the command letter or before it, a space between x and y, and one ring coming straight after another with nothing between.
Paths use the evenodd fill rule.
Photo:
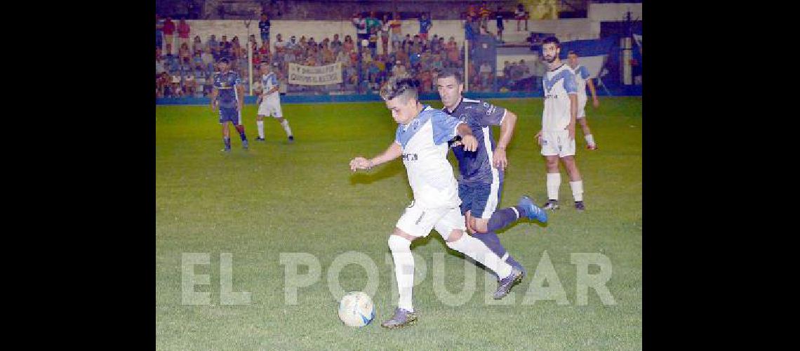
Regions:
<instances>
[{"instance_id":1,"label":"green grass soccer field under the players","mask_svg":"<svg viewBox=\"0 0 800 351\"><path fill-rule=\"evenodd\" d=\"M492 102L519 116L498 207L514 205L522 194L541 205L546 172L533 136L541 126L542 99ZM550 214L549 223L524 221L499 233L528 270L513 297L501 301L507 305L487 304L494 277L465 265L433 232L413 246L427 266L414 288L420 319L398 330L382 329L380 322L396 305L386 239L411 200L405 169L399 160L358 174L348 167L351 158L374 156L394 140L397 125L386 106L284 105L297 139L293 145L271 119L265 122L266 142L255 142L256 106L246 106L250 150L242 150L234 133L230 154L220 151L221 128L210 107L155 110L157 349L642 349L642 98L602 98L599 109L587 107L600 149L586 150L578 128L585 213L572 208L562 168L562 209ZM450 160L455 164L452 154ZM377 316L360 329L338 320L338 297L329 289L334 258L351 250L378 267ZM195 292L210 293L208 305L183 303L184 253L210 257L210 264L194 265L195 275L208 277L209 284L194 286ZM220 264L226 253L233 257L232 289L249 292L249 304L222 303L227 280ZM298 289L296 305L284 300L280 253L310 253L322 269L318 281ZM441 281L450 293L463 288L470 270L477 272L474 295L462 305L447 305L434 293L434 257L442 253L448 274ZM532 277L544 253L566 305L523 303L534 291ZM616 305L604 305L594 289L588 290L588 304L578 304L571 253L610 259L613 274L606 287ZM598 270L590 266L589 273ZM363 290L366 270L346 265L338 282L345 291Z\"/></svg>"}]
</instances>

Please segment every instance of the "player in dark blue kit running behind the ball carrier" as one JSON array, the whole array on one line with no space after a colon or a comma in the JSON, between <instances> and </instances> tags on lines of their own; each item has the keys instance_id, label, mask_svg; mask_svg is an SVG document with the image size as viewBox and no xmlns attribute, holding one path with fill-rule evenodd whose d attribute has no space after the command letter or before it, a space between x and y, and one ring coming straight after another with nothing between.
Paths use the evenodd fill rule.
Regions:
<instances>
[{"instance_id":1,"label":"player in dark blue kit running behind the ball carrier","mask_svg":"<svg viewBox=\"0 0 800 351\"><path fill-rule=\"evenodd\" d=\"M497 209L502 192L503 171L508 165L506 147L514 134L517 116L509 110L488 102L462 97L464 84L458 70L445 70L438 75L436 86L447 114L470 125L478 138L478 150L466 151L457 139L452 141L453 154L458 159L458 195L466 227L486 243L494 253L510 265L522 268L500 243L497 231L528 217L546 222L547 213L538 208L530 197L522 196L518 205ZM500 139L492 138L491 126L500 126Z\"/></svg>"}]
</instances>

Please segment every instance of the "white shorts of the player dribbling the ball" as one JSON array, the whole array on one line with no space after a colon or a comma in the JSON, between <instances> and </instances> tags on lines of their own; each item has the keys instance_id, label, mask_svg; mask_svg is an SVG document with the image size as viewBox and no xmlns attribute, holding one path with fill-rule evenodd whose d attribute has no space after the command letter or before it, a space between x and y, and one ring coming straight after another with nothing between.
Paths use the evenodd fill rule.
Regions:
<instances>
[{"instance_id":1,"label":"white shorts of the player dribbling the ball","mask_svg":"<svg viewBox=\"0 0 800 351\"><path fill-rule=\"evenodd\" d=\"M458 206L425 209L415 202L406 208L406 213L394 226L414 237L427 237L430 229L436 229L445 240L453 229L466 230L464 216Z\"/></svg>"}]
</instances>

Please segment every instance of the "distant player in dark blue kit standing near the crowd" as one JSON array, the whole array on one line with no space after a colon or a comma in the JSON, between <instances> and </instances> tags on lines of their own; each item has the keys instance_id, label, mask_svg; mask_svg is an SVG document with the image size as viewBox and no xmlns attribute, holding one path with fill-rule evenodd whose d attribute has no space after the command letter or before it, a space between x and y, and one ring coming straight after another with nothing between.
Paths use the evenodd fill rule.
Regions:
<instances>
[{"instance_id":1,"label":"distant player in dark blue kit standing near the crowd","mask_svg":"<svg viewBox=\"0 0 800 351\"><path fill-rule=\"evenodd\" d=\"M242 78L234 70L229 70L228 58L220 58L219 72L214 73L214 90L211 91L211 110L219 108L219 124L222 125L222 137L225 142L225 152L230 152L230 130L228 122L234 124L239 136L242 137L242 147L247 149L247 136L245 126L242 126L242 106L245 102L245 88Z\"/></svg>"}]
</instances>

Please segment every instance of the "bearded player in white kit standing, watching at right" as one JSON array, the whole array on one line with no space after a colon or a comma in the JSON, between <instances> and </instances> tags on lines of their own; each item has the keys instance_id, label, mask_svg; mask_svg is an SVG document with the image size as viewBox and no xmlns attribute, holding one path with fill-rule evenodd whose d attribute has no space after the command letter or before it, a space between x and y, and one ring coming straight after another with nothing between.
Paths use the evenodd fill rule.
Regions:
<instances>
[{"instance_id":1,"label":"bearded player in white kit standing, watching at right","mask_svg":"<svg viewBox=\"0 0 800 351\"><path fill-rule=\"evenodd\" d=\"M542 112L542 130L536 134L547 167L547 202L544 209L558 209L558 188L561 173L558 160L570 175L575 209L583 211L583 181L575 163L575 119L578 116L578 90L575 74L570 66L558 58L561 44L558 38L546 38L542 42L542 56L550 70L542 77L545 91L545 108Z\"/></svg>"}]
</instances>

